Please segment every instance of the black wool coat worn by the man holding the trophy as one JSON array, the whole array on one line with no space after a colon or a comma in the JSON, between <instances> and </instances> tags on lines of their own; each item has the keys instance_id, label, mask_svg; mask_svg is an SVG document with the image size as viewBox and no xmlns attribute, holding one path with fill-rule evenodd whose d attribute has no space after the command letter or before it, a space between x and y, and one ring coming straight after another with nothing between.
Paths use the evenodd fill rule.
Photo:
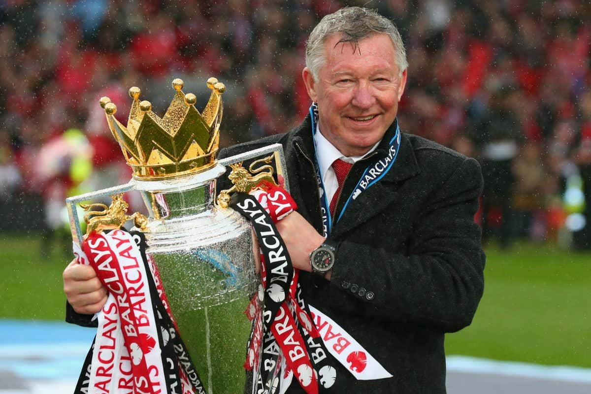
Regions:
<instances>
[{"instance_id":1,"label":"black wool coat worn by the man holding the trophy","mask_svg":"<svg viewBox=\"0 0 591 394\"><path fill-rule=\"evenodd\" d=\"M322 234L310 123L308 116L288 133L222 149L220 157L280 143L298 212ZM394 124L375 154L353 165L343 196L352 193L368 165L388 155L395 129ZM444 334L471 323L484 288L485 255L473 220L481 191L475 159L402 133L391 170L333 224L329 239L338 246L332 280L301 272L307 301L393 376L356 380L335 361L338 375L330 392L446 392ZM295 378L288 393L303 393Z\"/></svg>"}]
</instances>

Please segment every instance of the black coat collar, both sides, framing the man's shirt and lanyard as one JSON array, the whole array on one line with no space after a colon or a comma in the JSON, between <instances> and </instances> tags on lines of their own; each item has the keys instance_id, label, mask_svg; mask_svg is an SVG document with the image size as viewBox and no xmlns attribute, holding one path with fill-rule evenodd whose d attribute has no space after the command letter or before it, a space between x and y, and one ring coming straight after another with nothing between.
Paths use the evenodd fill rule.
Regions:
<instances>
[{"instance_id":1,"label":"black coat collar, both sides, framing the man's shirt and lanyard","mask_svg":"<svg viewBox=\"0 0 591 394\"><path fill-rule=\"evenodd\" d=\"M363 170L365 170L365 167L368 165L385 158L389 152L389 141L396 133L396 126L396 122L392 123L378 145L378 148L374 151L374 154L368 159L358 162L356 166L363 167ZM314 180L316 175L312 172L314 168L312 163L316 158L314 158L314 141L312 138L310 115L306 116L306 119L304 119L301 125L289 133L285 148L287 157L293 157L297 161L293 167L299 168L298 174L294 174L295 177L298 177L299 187L298 190L294 189L292 194L296 194L294 198L298 197L296 201L306 201L304 203L305 207L301 208L306 209L310 219L313 220L313 224L317 224L316 218L320 218L320 207L317 207L319 202L316 200L319 200L319 197L317 197L315 191L303 190L304 188L316 187L316 181ZM372 185L372 187L363 191L361 196L356 200L350 202L339 223L333 225L330 237L337 239L343 233L385 210L389 204L400 198L391 184L407 180L419 173L420 167L414 154L413 145L408 136L402 133L398 156L390 171L380 181ZM359 176L361 176L361 172L359 172ZM352 181L356 183L356 180ZM343 194L350 193L355 185L350 184L348 181L345 186L350 190L345 190ZM310 195L315 197L311 198Z\"/></svg>"}]
</instances>

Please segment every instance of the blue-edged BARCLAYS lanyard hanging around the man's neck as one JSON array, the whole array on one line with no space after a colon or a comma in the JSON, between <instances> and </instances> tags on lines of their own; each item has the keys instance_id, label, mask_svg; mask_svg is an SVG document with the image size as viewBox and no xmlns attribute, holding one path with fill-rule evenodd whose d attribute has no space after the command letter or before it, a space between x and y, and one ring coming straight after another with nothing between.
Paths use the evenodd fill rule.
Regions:
<instances>
[{"instance_id":1,"label":"blue-edged BARCLAYS lanyard hanging around the man's neck","mask_svg":"<svg viewBox=\"0 0 591 394\"><path fill-rule=\"evenodd\" d=\"M322 175L320 175L320 166L318 165L318 152L316 151L316 125L318 123L318 105L317 103L312 103L310 107L310 118L312 119L312 138L314 139L314 152L316 158L316 177L318 178L318 183L320 187L322 187L322 197L320 198L322 202L322 227L323 227L323 236L328 237L330 234L330 227L332 226L332 217L330 216L329 210L329 201L327 201L326 197L326 189L324 188L324 183L322 181ZM400 148L400 128L398 128L398 122L396 123L396 133L394 137L389 142L390 146L388 148L388 156L382 160L378 160L373 165L369 165L368 168L363 171L363 175L359 179L359 182L353 189L353 192L347 199L345 206L340 211L339 217L337 218L336 222L339 222L340 218L343 216L343 213L349 206L351 200L355 200L363 191L368 190L369 187L374 185L377 181L381 180L384 175L390 171L392 168L392 164L396 161L396 157L398 156L398 149Z\"/></svg>"}]
</instances>

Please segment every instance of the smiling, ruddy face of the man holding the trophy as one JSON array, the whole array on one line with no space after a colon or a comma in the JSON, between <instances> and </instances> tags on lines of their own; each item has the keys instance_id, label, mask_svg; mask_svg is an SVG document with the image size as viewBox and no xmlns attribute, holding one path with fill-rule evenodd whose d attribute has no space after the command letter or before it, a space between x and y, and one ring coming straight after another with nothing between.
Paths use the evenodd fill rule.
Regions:
<instances>
[{"instance_id":1,"label":"smiling, ruddy face of the man holding the trophy","mask_svg":"<svg viewBox=\"0 0 591 394\"><path fill-rule=\"evenodd\" d=\"M357 46L339 40L340 34L333 34L324 42L326 62L317 81L307 68L302 75L308 95L318 103L322 135L342 154L359 156L394 122L407 71L399 75L386 34L371 35Z\"/></svg>"}]
</instances>

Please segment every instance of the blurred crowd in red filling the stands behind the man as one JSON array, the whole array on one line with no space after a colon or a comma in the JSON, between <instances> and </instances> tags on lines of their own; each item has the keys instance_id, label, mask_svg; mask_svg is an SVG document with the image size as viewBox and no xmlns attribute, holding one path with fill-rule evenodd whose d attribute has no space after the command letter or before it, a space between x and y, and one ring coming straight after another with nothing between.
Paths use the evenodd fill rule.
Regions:
<instances>
[{"instance_id":1,"label":"blurred crowd in red filling the stands behind the man","mask_svg":"<svg viewBox=\"0 0 591 394\"><path fill-rule=\"evenodd\" d=\"M98 99L125 124L131 86L163 114L174 77L204 103L216 76L223 145L297 125L310 106L306 38L343 5L397 24L410 64L401 128L480 161L486 240L558 240L568 228L569 243L591 246L586 0L0 2L0 198L41 196L56 229L52 203L125 183Z\"/></svg>"}]
</instances>

